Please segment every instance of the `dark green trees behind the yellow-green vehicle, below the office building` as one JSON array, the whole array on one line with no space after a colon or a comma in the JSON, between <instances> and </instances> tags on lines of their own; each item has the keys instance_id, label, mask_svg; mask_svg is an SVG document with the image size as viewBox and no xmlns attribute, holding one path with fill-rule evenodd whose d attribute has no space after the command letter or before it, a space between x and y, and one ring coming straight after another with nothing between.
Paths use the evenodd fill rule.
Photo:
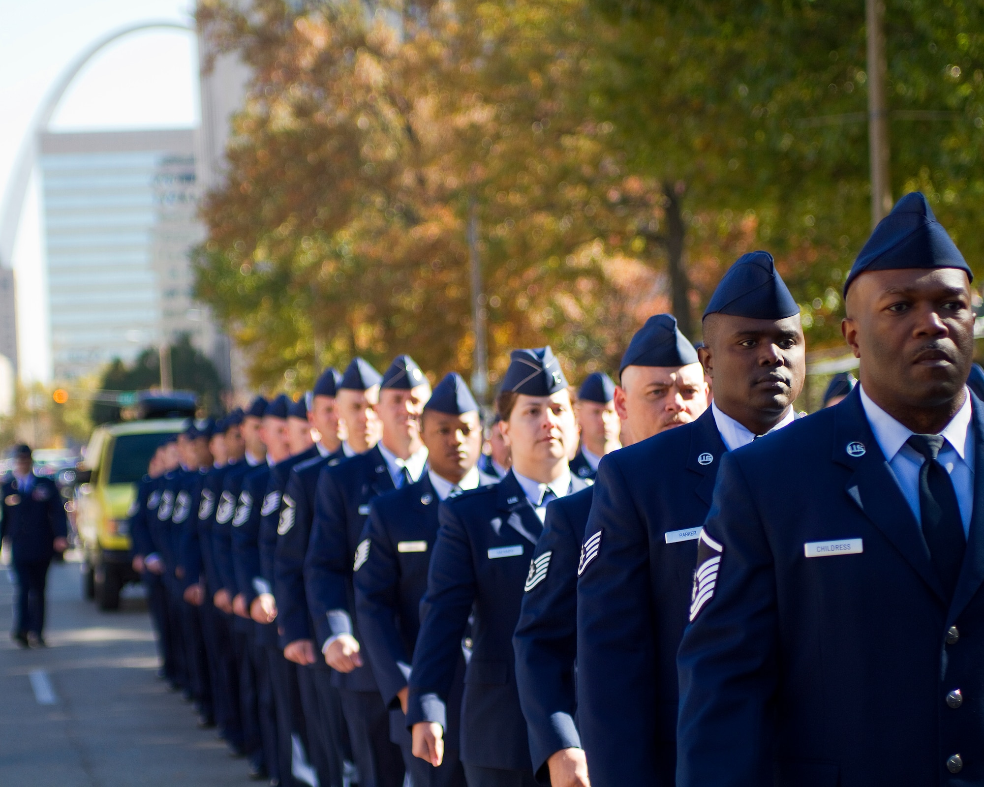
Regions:
<instances>
[{"instance_id":1,"label":"dark green trees behind the yellow-green vehicle, below the office building","mask_svg":"<svg viewBox=\"0 0 984 787\"><path fill-rule=\"evenodd\" d=\"M207 412L217 412L222 393L222 382L215 364L191 343L183 333L171 345L171 377L178 391L194 391L200 395L199 403ZM156 347L142 350L132 364L119 358L110 362L99 384L102 391L147 391L160 386L160 355ZM93 401L90 409L92 424L102 424L119 419L120 408L101 401Z\"/></svg>"}]
</instances>

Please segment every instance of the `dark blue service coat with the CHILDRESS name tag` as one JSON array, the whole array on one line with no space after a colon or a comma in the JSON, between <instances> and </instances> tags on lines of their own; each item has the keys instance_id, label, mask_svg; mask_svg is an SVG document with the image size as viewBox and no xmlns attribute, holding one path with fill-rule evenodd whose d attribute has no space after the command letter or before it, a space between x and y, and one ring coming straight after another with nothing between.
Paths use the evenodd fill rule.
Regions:
<instances>
[{"instance_id":1,"label":"dark blue service coat with the CHILDRESS name tag","mask_svg":"<svg viewBox=\"0 0 984 787\"><path fill-rule=\"evenodd\" d=\"M858 388L724 457L679 651L680 787L984 784L984 404L971 402L973 514L952 597Z\"/></svg>"}]
</instances>

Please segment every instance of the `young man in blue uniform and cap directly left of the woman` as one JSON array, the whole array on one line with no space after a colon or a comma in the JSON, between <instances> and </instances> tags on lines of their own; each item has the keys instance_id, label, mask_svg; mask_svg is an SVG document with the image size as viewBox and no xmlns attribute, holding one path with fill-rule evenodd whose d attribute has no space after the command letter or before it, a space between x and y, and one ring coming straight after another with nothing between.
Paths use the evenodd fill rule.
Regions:
<instances>
[{"instance_id":1,"label":"young man in blue uniform and cap directly left of the woman","mask_svg":"<svg viewBox=\"0 0 984 787\"><path fill-rule=\"evenodd\" d=\"M458 707L450 707L444 761L438 768L413 757L406 729L406 680L420 629L420 603L438 529L442 500L462 490L496 483L475 463L481 453L478 403L461 375L449 373L434 389L421 416L428 471L415 484L382 495L370 504L359 542L355 604L363 645L390 708L391 740L400 745L413 787L463 787L458 758ZM461 706L463 654L457 696ZM456 692L453 692L453 695ZM452 703L453 704L453 703Z\"/></svg>"}]
</instances>

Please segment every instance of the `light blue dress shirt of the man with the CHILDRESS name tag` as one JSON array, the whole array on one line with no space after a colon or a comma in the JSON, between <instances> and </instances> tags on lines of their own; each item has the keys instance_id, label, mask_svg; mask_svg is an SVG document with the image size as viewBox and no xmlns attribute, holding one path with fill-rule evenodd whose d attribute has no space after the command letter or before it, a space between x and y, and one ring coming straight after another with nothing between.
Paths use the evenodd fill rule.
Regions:
<instances>
[{"instance_id":1,"label":"light blue dress shirt of the man with the CHILDRESS name tag","mask_svg":"<svg viewBox=\"0 0 984 787\"><path fill-rule=\"evenodd\" d=\"M879 407L861 389L861 405L864 414L875 434L875 440L889 462L889 468L895 477L895 483L905 497L916 521L922 522L919 509L919 468L925 458L906 441L915 433L902 426L889 413ZM963 520L963 534L969 537L970 515L974 509L974 445L973 429L970 428L970 395L966 394L963 406L957 410L940 436L946 439L937 458L950 473L953 491L956 492L956 504L960 507L960 518Z\"/></svg>"}]
</instances>

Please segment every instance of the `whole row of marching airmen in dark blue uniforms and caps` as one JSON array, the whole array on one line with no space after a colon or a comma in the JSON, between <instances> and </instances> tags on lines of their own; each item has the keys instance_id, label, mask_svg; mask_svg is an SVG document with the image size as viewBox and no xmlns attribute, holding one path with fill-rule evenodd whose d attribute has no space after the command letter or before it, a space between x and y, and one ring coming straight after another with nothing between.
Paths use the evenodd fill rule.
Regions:
<instances>
[{"instance_id":1,"label":"whole row of marching airmen in dark blue uniforms and caps","mask_svg":"<svg viewBox=\"0 0 984 787\"><path fill-rule=\"evenodd\" d=\"M984 785L971 277L899 201L807 417L760 251L617 385L514 350L484 433L407 355L193 425L133 517L163 673L278 784Z\"/></svg>"}]
</instances>

